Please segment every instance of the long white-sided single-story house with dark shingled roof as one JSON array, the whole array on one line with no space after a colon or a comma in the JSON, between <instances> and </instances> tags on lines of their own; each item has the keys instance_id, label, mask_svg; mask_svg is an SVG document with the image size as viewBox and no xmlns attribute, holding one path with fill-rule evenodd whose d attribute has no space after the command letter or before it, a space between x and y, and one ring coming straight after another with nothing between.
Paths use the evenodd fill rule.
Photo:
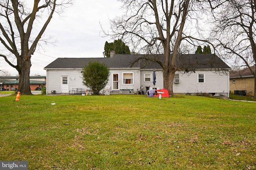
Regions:
<instances>
[{"instance_id":1,"label":"long white-sided single-story house with dark shingled roof","mask_svg":"<svg viewBox=\"0 0 256 170\"><path fill-rule=\"evenodd\" d=\"M163 88L162 68L158 63L139 60L140 57L158 58L163 55L114 55L110 58L58 58L46 70L46 93L68 94L73 89L89 90L82 83L82 68L89 61L106 63L110 68L108 84L111 93L136 92L141 86ZM133 63L133 64L132 64ZM178 55L174 78L175 94L208 93L229 97L230 67L213 54ZM153 85L153 70L156 70L156 84ZM186 72L188 71L188 72Z\"/></svg>"}]
</instances>

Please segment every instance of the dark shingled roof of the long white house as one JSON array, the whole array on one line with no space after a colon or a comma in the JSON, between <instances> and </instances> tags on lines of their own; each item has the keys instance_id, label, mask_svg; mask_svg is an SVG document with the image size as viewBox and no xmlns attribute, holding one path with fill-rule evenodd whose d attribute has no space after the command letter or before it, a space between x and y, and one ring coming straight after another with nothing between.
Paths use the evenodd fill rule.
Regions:
<instances>
[{"instance_id":1,"label":"dark shingled roof of the long white house","mask_svg":"<svg viewBox=\"0 0 256 170\"><path fill-rule=\"evenodd\" d=\"M164 55L114 55L112 58L58 58L48 64L44 69L54 68L83 68L89 61L98 61L106 63L109 68L145 68L145 69L161 69L161 66L152 61L144 59L136 62L138 58L158 58L163 63ZM131 66L132 65L132 66ZM176 67L181 70L185 69L229 69L230 67L214 54L198 54L198 55L178 55L176 59Z\"/></svg>"}]
</instances>

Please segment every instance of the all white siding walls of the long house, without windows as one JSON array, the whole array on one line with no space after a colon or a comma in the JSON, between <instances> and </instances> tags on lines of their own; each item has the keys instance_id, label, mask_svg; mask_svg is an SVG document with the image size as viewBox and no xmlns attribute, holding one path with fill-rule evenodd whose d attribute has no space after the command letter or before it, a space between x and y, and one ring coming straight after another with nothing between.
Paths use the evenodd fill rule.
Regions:
<instances>
[{"instance_id":1,"label":"all white siding walls of the long house, without windows","mask_svg":"<svg viewBox=\"0 0 256 170\"><path fill-rule=\"evenodd\" d=\"M82 83L81 70L47 70L47 94L51 94L52 90L56 90L57 94L61 93L61 76L68 76L68 90L72 88L88 89ZM123 84L123 73L132 72L134 74L133 84ZM120 89L133 89L136 92L140 86L153 87L153 71L152 70L110 70L110 77L107 86L112 90L112 74L119 74L119 88ZM144 81L144 73L151 73L151 82ZM198 83L198 73L204 73L205 82ZM180 83L174 83L174 93L216 93L223 94L229 93L229 73L221 74L215 71L196 71L180 74ZM163 74L162 71L156 71L156 85L155 87L163 88ZM120 92L120 91L119 91Z\"/></svg>"}]
</instances>

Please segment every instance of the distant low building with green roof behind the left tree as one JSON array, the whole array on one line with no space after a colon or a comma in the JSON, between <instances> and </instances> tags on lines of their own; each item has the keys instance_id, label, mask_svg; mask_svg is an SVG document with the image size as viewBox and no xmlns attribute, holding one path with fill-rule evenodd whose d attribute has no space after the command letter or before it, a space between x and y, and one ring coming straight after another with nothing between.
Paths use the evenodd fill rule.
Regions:
<instances>
[{"instance_id":1,"label":"distant low building with green roof behind the left tree","mask_svg":"<svg viewBox=\"0 0 256 170\"><path fill-rule=\"evenodd\" d=\"M17 90L19 86L19 76L0 76L0 84L7 91ZM30 76L30 89L46 85L46 76Z\"/></svg>"}]
</instances>

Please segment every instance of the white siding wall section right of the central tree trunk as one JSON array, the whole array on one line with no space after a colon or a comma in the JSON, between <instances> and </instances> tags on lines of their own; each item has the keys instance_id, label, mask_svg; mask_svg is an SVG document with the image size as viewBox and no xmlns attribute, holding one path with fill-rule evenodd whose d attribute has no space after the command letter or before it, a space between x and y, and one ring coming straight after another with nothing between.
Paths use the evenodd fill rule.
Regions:
<instances>
[{"instance_id":1,"label":"white siding wall section right of the central tree trunk","mask_svg":"<svg viewBox=\"0 0 256 170\"><path fill-rule=\"evenodd\" d=\"M198 83L198 73L204 73L204 83ZM229 93L229 73L202 70L185 74L176 72L176 74L180 74L180 83L174 83L174 93Z\"/></svg>"}]
</instances>

